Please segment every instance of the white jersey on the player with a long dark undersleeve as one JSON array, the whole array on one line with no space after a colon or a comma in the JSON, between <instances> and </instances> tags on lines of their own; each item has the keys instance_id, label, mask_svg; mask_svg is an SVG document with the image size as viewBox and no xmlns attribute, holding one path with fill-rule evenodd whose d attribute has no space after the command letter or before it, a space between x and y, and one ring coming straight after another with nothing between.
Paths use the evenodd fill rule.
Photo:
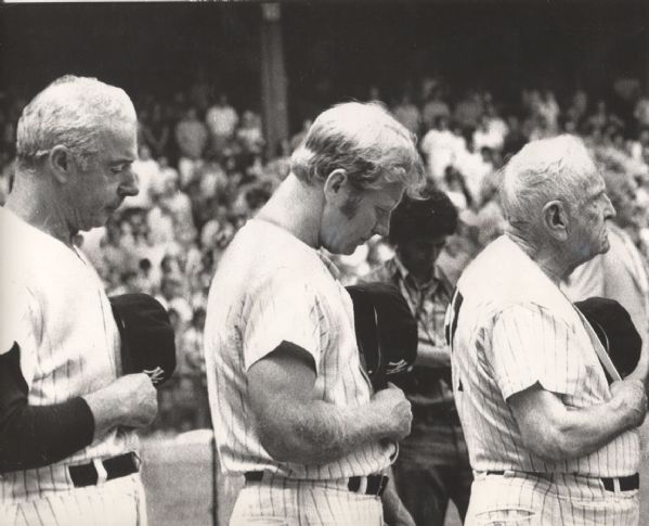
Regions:
<instances>
[{"instance_id":1,"label":"white jersey on the player with a long dark undersleeve","mask_svg":"<svg viewBox=\"0 0 649 526\"><path fill-rule=\"evenodd\" d=\"M62 402L113 382L120 368L119 334L101 280L86 257L4 208L0 235L18 241L0 262L0 352L18 344L29 405ZM0 502L70 489L66 465L121 454L137 445L134 433L114 429L55 464L5 473Z\"/></svg>"}]
</instances>

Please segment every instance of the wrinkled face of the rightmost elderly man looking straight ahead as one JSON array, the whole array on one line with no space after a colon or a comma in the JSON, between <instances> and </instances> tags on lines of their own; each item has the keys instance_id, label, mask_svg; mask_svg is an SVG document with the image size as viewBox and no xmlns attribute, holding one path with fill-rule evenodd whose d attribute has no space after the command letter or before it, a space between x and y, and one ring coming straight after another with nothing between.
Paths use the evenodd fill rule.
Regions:
<instances>
[{"instance_id":1,"label":"wrinkled face of the rightmost elderly man looking straight ahead","mask_svg":"<svg viewBox=\"0 0 649 526\"><path fill-rule=\"evenodd\" d=\"M593 172L584 201L570 217L569 239L580 261L587 261L609 249L606 221L615 216L615 210L606 193L603 179Z\"/></svg>"}]
</instances>

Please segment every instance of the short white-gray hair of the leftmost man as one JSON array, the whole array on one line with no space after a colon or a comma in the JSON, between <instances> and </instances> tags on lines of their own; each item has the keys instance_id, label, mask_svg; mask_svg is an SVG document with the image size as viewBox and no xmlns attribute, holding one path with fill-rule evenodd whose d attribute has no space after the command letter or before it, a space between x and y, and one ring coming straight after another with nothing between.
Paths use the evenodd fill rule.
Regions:
<instances>
[{"instance_id":1,"label":"short white-gray hair of the leftmost man","mask_svg":"<svg viewBox=\"0 0 649 526\"><path fill-rule=\"evenodd\" d=\"M120 120L137 120L133 103L122 89L95 78L63 76L23 110L16 132L17 162L34 168L52 147L65 145L85 168L100 150L102 130Z\"/></svg>"}]
</instances>

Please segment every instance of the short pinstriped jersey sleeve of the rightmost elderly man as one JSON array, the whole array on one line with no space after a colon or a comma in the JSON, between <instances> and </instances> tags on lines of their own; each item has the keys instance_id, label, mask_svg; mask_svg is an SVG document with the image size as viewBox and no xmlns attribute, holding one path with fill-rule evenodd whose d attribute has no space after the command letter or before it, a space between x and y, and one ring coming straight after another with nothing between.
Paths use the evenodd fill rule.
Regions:
<instances>
[{"instance_id":1,"label":"short pinstriped jersey sleeve of the rightmost elderly man","mask_svg":"<svg viewBox=\"0 0 649 526\"><path fill-rule=\"evenodd\" d=\"M575 395L583 363L570 352L566 323L535 305L507 308L495 320L488 359L504 399L538 383L559 395Z\"/></svg>"}]
</instances>

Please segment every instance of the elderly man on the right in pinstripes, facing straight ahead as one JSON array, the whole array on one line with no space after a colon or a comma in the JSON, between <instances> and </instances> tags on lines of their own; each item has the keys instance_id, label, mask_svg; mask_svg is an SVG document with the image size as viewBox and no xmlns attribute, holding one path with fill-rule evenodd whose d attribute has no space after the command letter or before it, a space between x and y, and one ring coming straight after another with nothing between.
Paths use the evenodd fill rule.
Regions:
<instances>
[{"instance_id":1,"label":"elderly man on the right in pinstripes, facing straight ahead","mask_svg":"<svg viewBox=\"0 0 649 526\"><path fill-rule=\"evenodd\" d=\"M603 180L561 136L511 158L501 198L508 230L464 272L446 315L476 474L466 524L637 525L647 357L620 380L559 290L609 248Z\"/></svg>"}]
</instances>

